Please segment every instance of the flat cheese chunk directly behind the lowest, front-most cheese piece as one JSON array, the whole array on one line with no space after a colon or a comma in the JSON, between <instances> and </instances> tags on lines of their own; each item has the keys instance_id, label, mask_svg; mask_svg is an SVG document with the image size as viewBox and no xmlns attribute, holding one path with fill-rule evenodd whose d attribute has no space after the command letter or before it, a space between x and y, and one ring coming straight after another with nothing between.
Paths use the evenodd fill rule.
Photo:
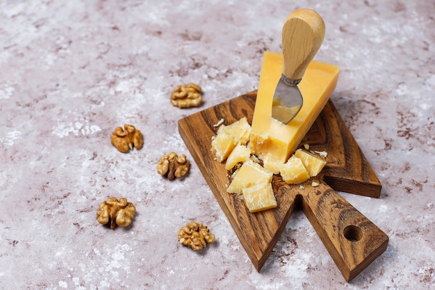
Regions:
<instances>
[{"instance_id":1,"label":"flat cheese chunk directly behind the lowest, front-most cheese piece","mask_svg":"<svg viewBox=\"0 0 435 290\"><path fill-rule=\"evenodd\" d=\"M271 181L272 172L249 160L238 169L236 176L233 177L231 184L227 188L227 193L242 194L243 188Z\"/></svg>"}]
</instances>

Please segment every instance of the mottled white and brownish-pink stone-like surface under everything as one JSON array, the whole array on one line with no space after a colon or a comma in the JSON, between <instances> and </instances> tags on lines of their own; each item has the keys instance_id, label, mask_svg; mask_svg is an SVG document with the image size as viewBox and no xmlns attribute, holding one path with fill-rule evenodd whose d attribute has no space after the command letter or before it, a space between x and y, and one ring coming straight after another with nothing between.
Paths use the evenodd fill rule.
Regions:
<instances>
[{"instance_id":1,"label":"mottled white and brownish-pink stone-like surface under everything","mask_svg":"<svg viewBox=\"0 0 435 290\"><path fill-rule=\"evenodd\" d=\"M351 1L349 1L351 2ZM0 278L3 289L435 288L434 1L0 1ZM383 184L380 199L342 193L390 237L347 283L302 211L260 273L195 163L156 173L171 150L191 156L177 121L258 86L263 51L313 8L327 35L316 59L341 67L331 96ZM169 102L199 83L204 103ZM145 147L122 154L115 127ZM125 196L133 225L97 223ZM177 242L191 220L217 242Z\"/></svg>"}]
</instances>

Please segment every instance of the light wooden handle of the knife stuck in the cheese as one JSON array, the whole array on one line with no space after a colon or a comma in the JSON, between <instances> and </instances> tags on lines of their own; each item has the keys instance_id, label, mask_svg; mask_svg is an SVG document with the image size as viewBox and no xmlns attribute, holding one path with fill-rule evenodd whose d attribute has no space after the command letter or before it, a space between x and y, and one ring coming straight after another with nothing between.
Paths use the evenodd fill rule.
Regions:
<instances>
[{"instance_id":1,"label":"light wooden handle of the knife stuck in the cheese","mask_svg":"<svg viewBox=\"0 0 435 290\"><path fill-rule=\"evenodd\" d=\"M298 9L288 15L282 29L283 74L298 80L314 58L325 38L325 22L310 9Z\"/></svg>"}]
</instances>

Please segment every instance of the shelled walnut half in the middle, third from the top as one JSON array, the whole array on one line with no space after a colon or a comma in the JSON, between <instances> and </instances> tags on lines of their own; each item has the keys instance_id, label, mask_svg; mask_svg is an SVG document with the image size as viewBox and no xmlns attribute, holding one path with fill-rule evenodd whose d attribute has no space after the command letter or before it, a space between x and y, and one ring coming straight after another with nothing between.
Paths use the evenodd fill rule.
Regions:
<instances>
[{"instance_id":1,"label":"shelled walnut half in the middle, third from the top","mask_svg":"<svg viewBox=\"0 0 435 290\"><path fill-rule=\"evenodd\" d=\"M167 176L169 180L186 176L189 169L190 162L186 159L186 155L177 155L175 152L161 156L157 163L158 174Z\"/></svg>"}]
</instances>

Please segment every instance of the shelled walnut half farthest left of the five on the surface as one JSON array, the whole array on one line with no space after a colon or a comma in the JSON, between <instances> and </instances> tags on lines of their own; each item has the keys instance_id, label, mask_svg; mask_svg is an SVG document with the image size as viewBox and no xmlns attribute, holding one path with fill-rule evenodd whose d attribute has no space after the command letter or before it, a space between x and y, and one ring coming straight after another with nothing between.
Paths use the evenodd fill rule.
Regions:
<instances>
[{"instance_id":1,"label":"shelled walnut half farthest left of the five on the surface","mask_svg":"<svg viewBox=\"0 0 435 290\"><path fill-rule=\"evenodd\" d=\"M120 200L109 198L100 204L97 220L103 225L110 223L111 229L115 229L116 225L128 227L135 213L136 207L131 202L127 202L126 198Z\"/></svg>"}]
</instances>

